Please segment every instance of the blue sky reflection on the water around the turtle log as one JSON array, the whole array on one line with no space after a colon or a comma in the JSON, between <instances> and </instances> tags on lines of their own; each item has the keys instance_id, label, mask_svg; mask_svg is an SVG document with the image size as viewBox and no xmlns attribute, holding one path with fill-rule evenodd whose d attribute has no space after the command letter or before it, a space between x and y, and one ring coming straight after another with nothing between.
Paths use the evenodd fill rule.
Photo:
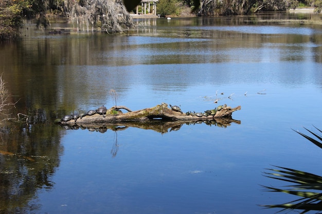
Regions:
<instances>
[{"instance_id":1,"label":"blue sky reflection on the water around the turtle log","mask_svg":"<svg viewBox=\"0 0 322 214\"><path fill-rule=\"evenodd\" d=\"M202 28L265 37L315 32L276 26ZM60 86L60 95L68 93L84 109L113 106L111 89L118 93L118 105L132 110L162 102L180 105L184 112L241 105L232 115L241 124L184 124L165 134L128 128L117 134L115 158L113 131L66 131L55 186L40 192L41 213L272 213L277 210L256 204L283 203L288 196L261 191L259 184L280 184L264 178L263 168L281 165L320 174L312 163L320 163L322 151L291 130L319 127L322 121L322 65L313 60L315 45L241 40L235 47L224 46L223 37L121 40L126 42L113 50L91 52L99 57L91 65L60 65L60 80L73 77Z\"/></svg>"}]
</instances>

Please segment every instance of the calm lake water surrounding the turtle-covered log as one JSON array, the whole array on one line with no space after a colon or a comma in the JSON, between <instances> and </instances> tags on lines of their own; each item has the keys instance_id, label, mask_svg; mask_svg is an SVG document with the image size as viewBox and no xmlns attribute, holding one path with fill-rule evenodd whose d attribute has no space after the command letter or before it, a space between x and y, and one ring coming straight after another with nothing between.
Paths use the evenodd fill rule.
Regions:
<instances>
[{"instance_id":1,"label":"calm lake water surrounding the turtle-covered log","mask_svg":"<svg viewBox=\"0 0 322 214\"><path fill-rule=\"evenodd\" d=\"M322 151L292 130L322 128L322 28L296 19L322 16L139 19L121 35L49 34L27 22L21 41L0 45L14 112L28 115L2 133L0 212L275 213L259 205L294 198L264 191L287 185L264 177L265 168L320 175L322 167ZM115 101L132 110L241 110L229 124L178 130L53 123Z\"/></svg>"}]
</instances>

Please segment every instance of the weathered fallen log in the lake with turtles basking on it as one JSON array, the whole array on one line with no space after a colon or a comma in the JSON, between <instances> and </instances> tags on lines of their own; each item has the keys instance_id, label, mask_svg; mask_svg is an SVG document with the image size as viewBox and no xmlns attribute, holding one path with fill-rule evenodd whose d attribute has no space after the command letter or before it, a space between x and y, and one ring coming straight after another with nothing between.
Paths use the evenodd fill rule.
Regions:
<instances>
[{"instance_id":1,"label":"weathered fallen log in the lake with turtles basking on it","mask_svg":"<svg viewBox=\"0 0 322 214\"><path fill-rule=\"evenodd\" d=\"M120 109L126 109L128 112L123 113ZM182 120L182 121L203 121L214 120L217 118L231 117L232 112L240 110L241 106L231 108L229 106L222 106L214 115L195 116L186 115L178 111L168 108L168 104L162 103L152 108L145 108L137 111L131 111L124 106L113 106L106 110L106 114L86 115L77 120L60 121L61 124L84 124L84 123L102 123L102 122L120 122L120 121L149 121L149 120Z\"/></svg>"}]
</instances>

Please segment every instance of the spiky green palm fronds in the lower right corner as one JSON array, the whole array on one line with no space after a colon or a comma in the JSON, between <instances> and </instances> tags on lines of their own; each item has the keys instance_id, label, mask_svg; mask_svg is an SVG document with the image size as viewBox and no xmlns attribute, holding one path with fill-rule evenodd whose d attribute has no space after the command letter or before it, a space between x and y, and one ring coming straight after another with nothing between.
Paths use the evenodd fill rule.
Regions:
<instances>
[{"instance_id":1,"label":"spiky green palm fronds in the lower right corner","mask_svg":"<svg viewBox=\"0 0 322 214\"><path fill-rule=\"evenodd\" d=\"M315 127L315 126L314 126ZM316 128L316 127L315 127ZM321 135L309 131L316 139L309 137L306 134L303 134L299 131L296 131L310 142L314 143L316 146L322 148L322 137ZM321 130L316 128L319 132ZM294 130L295 131L295 130ZM322 177L317 176L305 171L300 171L291 168L275 166L278 169L266 169L270 172L264 172L264 176L272 179L277 179L281 181L286 181L293 183L292 185L287 186L285 189L263 186L267 191L271 192L284 192L292 194L294 196L300 197L300 199L284 203L284 204L275 204L275 205L261 205L265 208L282 208L280 211L290 211L294 209L301 210L300 213L306 213L310 210L322 210Z\"/></svg>"}]
</instances>

